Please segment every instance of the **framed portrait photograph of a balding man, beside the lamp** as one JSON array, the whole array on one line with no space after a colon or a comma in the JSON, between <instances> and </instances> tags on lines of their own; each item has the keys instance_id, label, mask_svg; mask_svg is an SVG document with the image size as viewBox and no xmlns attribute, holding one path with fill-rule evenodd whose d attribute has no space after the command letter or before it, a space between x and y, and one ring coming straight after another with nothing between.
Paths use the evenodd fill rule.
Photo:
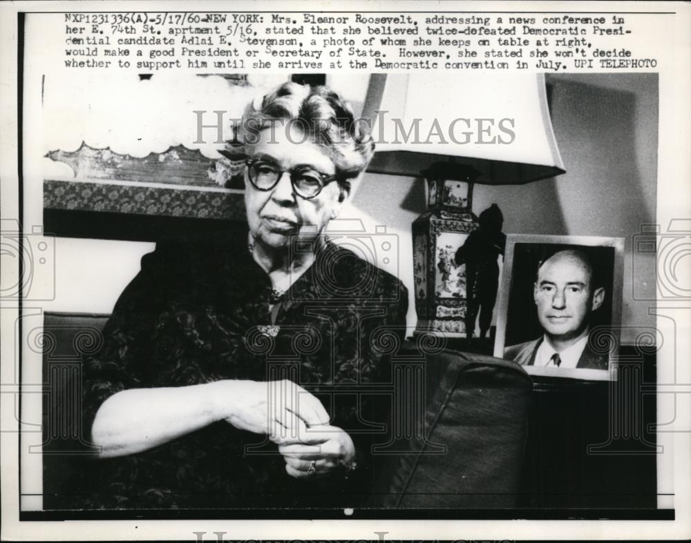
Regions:
<instances>
[{"instance_id":1,"label":"framed portrait photograph of a balding man, beside the lamp","mask_svg":"<svg viewBox=\"0 0 691 543\"><path fill-rule=\"evenodd\" d=\"M616 237L507 236L494 355L532 375L614 379L623 250Z\"/></svg>"}]
</instances>

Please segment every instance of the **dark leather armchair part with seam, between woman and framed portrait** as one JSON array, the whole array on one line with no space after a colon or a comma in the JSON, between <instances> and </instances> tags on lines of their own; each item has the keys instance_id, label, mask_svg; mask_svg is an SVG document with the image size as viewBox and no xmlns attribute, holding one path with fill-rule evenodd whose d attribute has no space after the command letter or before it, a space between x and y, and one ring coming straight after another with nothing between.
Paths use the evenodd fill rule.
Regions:
<instances>
[{"instance_id":1,"label":"dark leather armchair part with seam, between woman and framed portrait","mask_svg":"<svg viewBox=\"0 0 691 543\"><path fill-rule=\"evenodd\" d=\"M513 362L441 351L425 357L424 424L379 457L372 506L515 507L532 390Z\"/></svg>"}]
</instances>

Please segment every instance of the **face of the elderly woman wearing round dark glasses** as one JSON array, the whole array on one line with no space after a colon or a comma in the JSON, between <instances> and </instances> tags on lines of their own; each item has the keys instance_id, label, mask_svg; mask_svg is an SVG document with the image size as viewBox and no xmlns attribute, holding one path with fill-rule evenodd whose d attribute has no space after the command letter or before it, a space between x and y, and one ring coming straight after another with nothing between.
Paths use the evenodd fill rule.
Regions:
<instances>
[{"instance_id":1,"label":"face of the elderly woman wearing round dark glasses","mask_svg":"<svg viewBox=\"0 0 691 543\"><path fill-rule=\"evenodd\" d=\"M260 139L249 151L249 158L272 161L282 170L310 166L326 175L334 175L331 159L312 141L305 140L303 130L295 124L276 124L273 131L260 132ZM272 248L287 247L293 235L315 237L328 222L337 217L347 194L341 195L337 181L311 199L295 194L290 174L283 173L272 190L257 190L245 172L245 208L249 232L255 241Z\"/></svg>"}]
</instances>

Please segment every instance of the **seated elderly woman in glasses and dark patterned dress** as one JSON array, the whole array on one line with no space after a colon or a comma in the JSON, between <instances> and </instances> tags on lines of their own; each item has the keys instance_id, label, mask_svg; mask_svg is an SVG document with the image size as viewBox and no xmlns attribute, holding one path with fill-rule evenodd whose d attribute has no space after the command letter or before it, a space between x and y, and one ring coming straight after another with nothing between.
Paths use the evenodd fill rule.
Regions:
<instances>
[{"instance_id":1,"label":"seated elderly woman in glasses and dark patterned dress","mask_svg":"<svg viewBox=\"0 0 691 543\"><path fill-rule=\"evenodd\" d=\"M372 140L295 83L242 126L247 228L159 244L85 363L91 506L357 506L372 484L377 337L402 333L408 295L323 235Z\"/></svg>"}]
</instances>

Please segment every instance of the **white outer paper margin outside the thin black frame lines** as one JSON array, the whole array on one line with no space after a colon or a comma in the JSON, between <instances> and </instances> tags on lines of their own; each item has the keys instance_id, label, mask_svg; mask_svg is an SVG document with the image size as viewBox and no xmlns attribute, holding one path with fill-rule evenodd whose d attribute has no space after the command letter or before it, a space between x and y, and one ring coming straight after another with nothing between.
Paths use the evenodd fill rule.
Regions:
<instances>
[{"instance_id":1,"label":"white outer paper margin outside the thin black frame lines","mask_svg":"<svg viewBox=\"0 0 691 543\"><path fill-rule=\"evenodd\" d=\"M404 10L405 3L368 3L364 0L353 1L348 8L367 10L376 6L379 10ZM419 6L419 4L418 4ZM253 1L240 1L234 4L234 10L253 10L258 8ZM306 9L304 5L300 8ZM438 7L437 3L434 6ZM151 1L146 4L149 10L176 10L171 2ZM277 1L271 9L276 12L295 9L291 2ZM463 3L449 2L446 10L515 10L515 4L502 2ZM658 210L657 222L663 231L668 229L674 220L687 220L691 217L688 206L688 180L691 179L691 161L688 148L691 142L691 78L689 77L689 60L691 57L691 6L674 2L527 2L523 10L598 10L645 12L654 11L670 17L668 32L681 37L679 41L670 41L669 52L664 55L660 77L660 118L659 118L659 161L658 161ZM19 12L49 11L63 12L75 10L141 10L138 2L96 2L96 1L17 1L0 5L0 59L3 70L0 72L0 206L3 218L18 219L21 217L21 166L18 164L19 108L17 99L17 14ZM200 1L196 10L224 10L227 3ZM343 4L332 2L319 3L319 10L344 9ZM411 8L413 9L413 8ZM681 197L680 197L681 195ZM3 257L1 259L3 281L16 277L21 270L17 261ZM681 303L678 303L681 302ZM658 457L658 506L668 508L674 513L674 520L105 520L55 522L41 520L26 522L19 520L19 435L21 423L15 417L15 401L20 395L18 385L13 384L13 372L17 363L17 338L15 322L20 315L17 302L8 303L0 300L3 340L0 342L2 353L1 377L3 394L0 395L2 408L0 420L1 462L1 538L3 540L193 540L196 531L204 531L205 540L216 540L215 531L224 533L228 539L258 538L363 538L392 540L396 538L442 538L462 537L466 540L486 539L488 537L512 538L514 540L529 538L565 539L565 538L607 538L622 539L636 537L641 540L659 538L684 540L691 534L691 425L688 413L691 399L691 373L688 359L683 353L691 352L691 337L686 333L691 322L691 310L683 300L658 299L651 307L651 313L659 315L658 327L665 331L677 328L681 333L675 342L663 346L659 356L666 359L668 366L659 366L658 385L668 387L668 393L658 395L658 429L659 442L665 446L665 454ZM666 313L665 313L666 312ZM669 317L674 315L674 318ZM677 322L678 321L678 322ZM672 362L677 366L672 368ZM675 513L676 511L676 513Z\"/></svg>"}]
</instances>

